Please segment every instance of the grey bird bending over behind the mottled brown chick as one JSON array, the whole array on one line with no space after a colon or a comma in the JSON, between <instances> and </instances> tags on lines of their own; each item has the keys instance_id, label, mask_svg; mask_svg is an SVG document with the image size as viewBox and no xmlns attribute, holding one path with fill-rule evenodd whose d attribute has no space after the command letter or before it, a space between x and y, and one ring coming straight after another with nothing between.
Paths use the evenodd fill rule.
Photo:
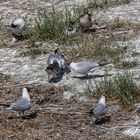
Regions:
<instances>
[{"instance_id":1,"label":"grey bird bending over behind the mottled brown chick","mask_svg":"<svg viewBox=\"0 0 140 140\"><path fill-rule=\"evenodd\" d=\"M57 61L59 67L65 67L66 60L64 55L58 53L59 48L54 51L54 54L50 54L47 60L47 64L53 64L54 61Z\"/></svg>"}]
</instances>

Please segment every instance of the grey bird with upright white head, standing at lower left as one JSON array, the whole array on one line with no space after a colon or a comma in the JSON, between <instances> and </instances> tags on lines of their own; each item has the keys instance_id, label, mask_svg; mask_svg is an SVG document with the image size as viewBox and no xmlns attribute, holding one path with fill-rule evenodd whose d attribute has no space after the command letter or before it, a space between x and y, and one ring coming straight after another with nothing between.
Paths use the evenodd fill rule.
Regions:
<instances>
[{"instance_id":1,"label":"grey bird with upright white head, standing at lower left","mask_svg":"<svg viewBox=\"0 0 140 140\"><path fill-rule=\"evenodd\" d=\"M29 110L31 107L30 101L31 101L31 99L30 99L30 96L29 96L27 89L23 88L22 89L22 97L20 99L18 99L17 101L15 101L14 103L12 103L10 105L10 107L7 109L18 111L19 116L21 115L21 112L24 115L24 111Z\"/></svg>"}]
</instances>

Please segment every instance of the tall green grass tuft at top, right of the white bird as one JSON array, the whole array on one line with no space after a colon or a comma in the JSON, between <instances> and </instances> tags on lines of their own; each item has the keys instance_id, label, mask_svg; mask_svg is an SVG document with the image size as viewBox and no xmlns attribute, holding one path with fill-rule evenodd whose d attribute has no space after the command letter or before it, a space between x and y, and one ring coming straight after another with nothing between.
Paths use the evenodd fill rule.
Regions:
<instances>
[{"instance_id":1,"label":"tall green grass tuft at top, right of the white bird","mask_svg":"<svg viewBox=\"0 0 140 140\"><path fill-rule=\"evenodd\" d=\"M72 10L66 8L65 11L57 11L53 6L52 11L45 9L39 11L34 27L31 29L31 34L39 40L54 40L63 43L69 39L64 34L65 29L70 22L74 22L75 26L77 26L79 13L78 8L73 8Z\"/></svg>"}]
</instances>

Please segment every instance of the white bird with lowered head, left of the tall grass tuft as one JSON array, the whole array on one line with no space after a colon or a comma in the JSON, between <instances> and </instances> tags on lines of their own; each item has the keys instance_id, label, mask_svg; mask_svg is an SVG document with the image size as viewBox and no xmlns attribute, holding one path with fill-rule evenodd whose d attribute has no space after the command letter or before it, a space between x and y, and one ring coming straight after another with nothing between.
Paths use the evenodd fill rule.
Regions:
<instances>
[{"instance_id":1,"label":"white bird with lowered head, left of the tall grass tuft","mask_svg":"<svg viewBox=\"0 0 140 140\"><path fill-rule=\"evenodd\" d=\"M26 22L21 17L12 21L11 28L13 30L13 42L17 42L19 40L24 39L22 32L24 31L25 27L26 27Z\"/></svg>"}]
</instances>

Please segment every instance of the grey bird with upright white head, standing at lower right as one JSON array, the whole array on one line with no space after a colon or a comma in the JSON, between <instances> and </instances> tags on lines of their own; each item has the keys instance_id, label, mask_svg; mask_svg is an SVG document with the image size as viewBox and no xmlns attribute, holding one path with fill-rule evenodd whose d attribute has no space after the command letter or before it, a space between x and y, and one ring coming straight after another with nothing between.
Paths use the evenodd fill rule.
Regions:
<instances>
[{"instance_id":1,"label":"grey bird with upright white head, standing at lower right","mask_svg":"<svg viewBox=\"0 0 140 140\"><path fill-rule=\"evenodd\" d=\"M91 110L91 114L93 114L93 116L95 118L100 118L100 117L104 117L107 113L107 109L106 109L106 103L105 103L105 96L101 96L98 104L96 104L92 110Z\"/></svg>"}]
</instances>

